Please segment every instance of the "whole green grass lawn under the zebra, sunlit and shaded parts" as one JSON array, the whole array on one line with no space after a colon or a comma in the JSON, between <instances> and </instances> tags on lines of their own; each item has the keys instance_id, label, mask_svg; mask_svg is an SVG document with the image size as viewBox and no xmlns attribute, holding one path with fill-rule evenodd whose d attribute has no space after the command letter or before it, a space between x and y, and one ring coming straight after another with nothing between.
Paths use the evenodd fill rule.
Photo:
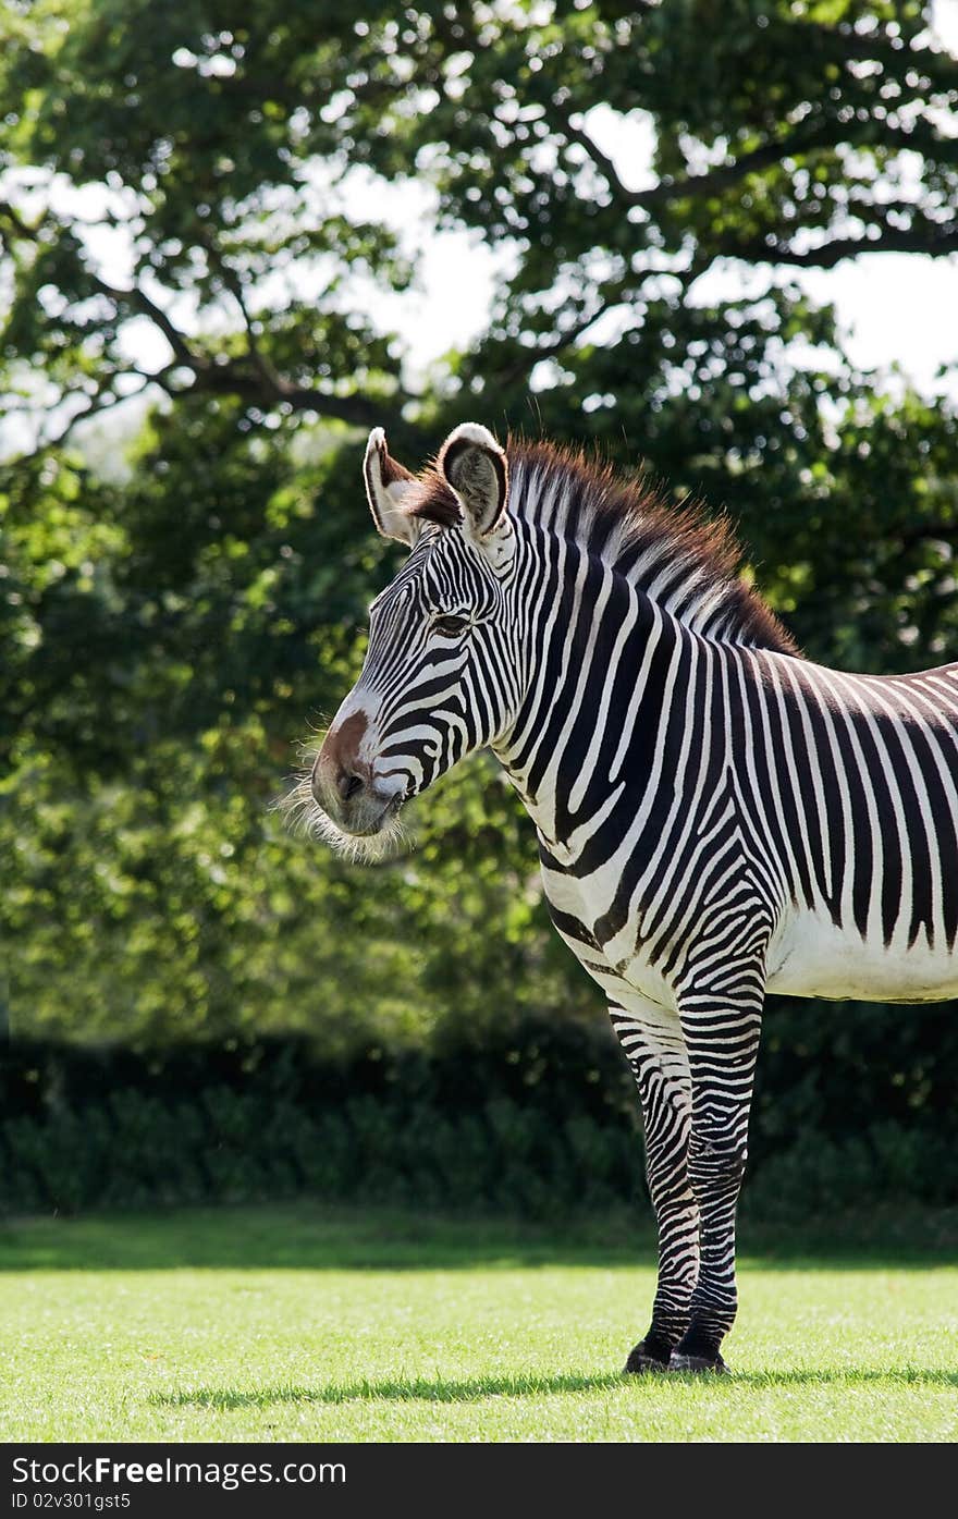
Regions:
<instances>
[{"instance_id":1,"label":"whole green grass lawn under the zebra, sunlit and shaded parts","mask_svg":"<svg viewBox=\"0 0 958 1519\"><path fill-rule=\"evenodd\" d=\"M651 1240L307 1205L0 1229L3 1440L952 1440L958 1268L741 1261L735 1375L624 1378Z\"/></svg>"}]
</instances>

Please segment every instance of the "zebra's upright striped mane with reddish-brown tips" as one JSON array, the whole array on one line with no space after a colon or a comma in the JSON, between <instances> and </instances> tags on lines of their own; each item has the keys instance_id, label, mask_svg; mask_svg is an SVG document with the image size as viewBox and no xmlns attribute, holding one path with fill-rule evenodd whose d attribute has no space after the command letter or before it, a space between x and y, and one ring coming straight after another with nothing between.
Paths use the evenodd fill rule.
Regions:
<instances>
[{"instance_id":1,"label":"zebra's upright striped mane with reddish-brown tips","mask_svg":"<svg viewBox=\"0 0 958 1519\"><path fill-rule=\"evenodd\" d=\"M510 510L545 538L598 559L667 615L720 643L797 653L771 609L735 570L724 519L667 504L642 482L545 444L509 448Z\"/></svg>"}]
</instances>

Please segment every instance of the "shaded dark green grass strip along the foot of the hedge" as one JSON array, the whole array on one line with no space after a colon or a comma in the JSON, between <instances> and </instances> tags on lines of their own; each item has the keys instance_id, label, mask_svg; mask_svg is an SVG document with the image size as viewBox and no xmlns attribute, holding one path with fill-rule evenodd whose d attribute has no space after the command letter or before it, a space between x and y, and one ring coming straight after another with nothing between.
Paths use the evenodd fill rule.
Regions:
<instances>
[{"instance_id":1,"label":"shaded dark green grass strip along the foot of the hedge","mask_svg":"<svg viewBox=\"0 0 958 1519\"><path fill-rule=\"evenodd\" d=\"M953 1265L958 1211L739 1232L744 1270L887 1270ZM868 1230L873 1230L871 1233ZM451 1271L528 1267L654 1268L651 1214L619 1209L548 1223L387 1208L281 1203L0 1223L3 1271Z\"/></svg>"}]
</instances>

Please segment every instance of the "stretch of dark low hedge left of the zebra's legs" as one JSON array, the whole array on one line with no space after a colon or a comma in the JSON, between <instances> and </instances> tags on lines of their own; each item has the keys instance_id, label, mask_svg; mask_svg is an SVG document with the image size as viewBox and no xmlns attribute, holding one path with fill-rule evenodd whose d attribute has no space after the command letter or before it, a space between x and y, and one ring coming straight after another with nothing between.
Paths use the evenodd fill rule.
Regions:
<instances>
[{"instance_id":1,"label":"stretch of dark low hedge left of the zebra's legs","mask_svg":"<svg viewBox=\"0 0 958 1519\"><path fill-rule=\"evenodd\" d=\"M2 1071L0 1202L84 1212L155 1202L357 1197L530 1217L630 1200L632 1082L610 1034L525 1027L431 1059L302 1042L82 1053L15 1047ZM556 1104L568 1103L568 1120Z\"/></svg>"}]
</instances>

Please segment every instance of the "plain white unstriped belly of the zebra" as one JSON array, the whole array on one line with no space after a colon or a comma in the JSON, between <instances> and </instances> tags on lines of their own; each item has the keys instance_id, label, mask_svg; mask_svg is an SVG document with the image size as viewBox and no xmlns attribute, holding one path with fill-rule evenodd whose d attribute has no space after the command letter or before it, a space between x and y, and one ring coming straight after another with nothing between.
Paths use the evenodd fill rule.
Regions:
<instances>
[{"instance_id":1,"label":"plain white unstriped belly of the zebra","mask_svg":"<svg viewBox=\"0 0 958 1519\"><path fill-rule=\"evenodd\" d=\"M865 1003L940 1003L958 996L958 952L931 949L925 937L864 943L826 914L800 913L768 948L770 992L786 996L861 998Z\"/></svg>"}]
</instances>

